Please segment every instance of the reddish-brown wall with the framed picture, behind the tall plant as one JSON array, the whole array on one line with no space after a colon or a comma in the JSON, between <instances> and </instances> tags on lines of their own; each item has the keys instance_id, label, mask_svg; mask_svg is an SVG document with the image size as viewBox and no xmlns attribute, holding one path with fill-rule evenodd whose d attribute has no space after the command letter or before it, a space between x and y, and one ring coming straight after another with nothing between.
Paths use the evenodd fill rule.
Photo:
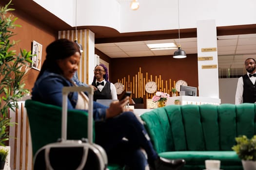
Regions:
<instances>
[{"instance_id":1,"label":"reddish-brown wall with the framed picture, behind the tall plant","mask_svg":"<svg viewBox=\"0 0 256 170\"><path fill-rule=\"evenodd\" d=\"M20 49L32 51L32 42L33 40L35 40L42 45L43 62L46 55L45 49L48 44L50 44L58 37L58 32L47 27L46 25L41 24L39 21L22 12L13 11L9 14L13 14L15 17L18 17L15 23L21 25L21 27L16 27L16 29L13 30L16 35L11 37L11 40L19 40L19 43L14 47L14 50L16 50L16 54L19 54ZM39 71L36 69L29 70L26 77L27 81L25 82L25 88L31 91L38 76L38 73Z\"/></svg>"}]
</instances>

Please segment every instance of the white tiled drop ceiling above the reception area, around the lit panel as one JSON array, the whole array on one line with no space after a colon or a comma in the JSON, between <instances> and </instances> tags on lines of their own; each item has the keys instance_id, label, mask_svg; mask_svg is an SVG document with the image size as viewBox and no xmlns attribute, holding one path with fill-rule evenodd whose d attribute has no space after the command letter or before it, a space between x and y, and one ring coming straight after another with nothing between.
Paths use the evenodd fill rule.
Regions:
<instances>
[{"instance_id":1,"label":"white tiled drop ceiling above the reception area, around the lit panel","mask_svg":"<svg viewBox=\"0 0 256 170\"><path fill-rule=\"evenodd\" d=\"M110 58L173 55L176 50L151 51L146 45L169 42L178 45L178 39L164 39L95 44L95 47ZM197 38L180 39L180 45L187 54L197 53ZM230 75L242 75L246 71L245 59L256 58L256 34L217 36L217 53L219 74L225 75L230 68Z\"/></svg>"}]
</instances>

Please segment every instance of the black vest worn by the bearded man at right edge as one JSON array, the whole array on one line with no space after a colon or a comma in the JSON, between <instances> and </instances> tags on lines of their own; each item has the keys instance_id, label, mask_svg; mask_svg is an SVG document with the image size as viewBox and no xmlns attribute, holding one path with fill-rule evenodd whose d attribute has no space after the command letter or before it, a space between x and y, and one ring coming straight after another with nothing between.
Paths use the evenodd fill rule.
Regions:
<instances>
[{"instance_id":1,"label":"black vest worn by the bearded man at right edge","mask_svg":"<svg viewBox=\"0 0 256 170\"><path fill-rule=\"evenodd\" d=\"M251 82L247 74L243 75L243 102L256 102L256 85Z\"/></svg>"}]
</instances>

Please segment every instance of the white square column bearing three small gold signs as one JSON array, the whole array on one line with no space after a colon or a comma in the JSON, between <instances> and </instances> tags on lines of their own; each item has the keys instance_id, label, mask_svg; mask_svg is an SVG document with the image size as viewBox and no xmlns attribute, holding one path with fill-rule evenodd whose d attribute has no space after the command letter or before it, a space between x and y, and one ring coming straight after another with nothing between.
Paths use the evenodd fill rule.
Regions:
<instances>
[{"instance_id":1,"label":"white square column bearing three small gold signs","mask_svg":"<svg viewBox=\"0 0 256 170\"><path fill-rule=\"evenodd\" d=\"M197 21L197 54L199 96L219 98L215 20Z\"/></svg>"}]
</instances>

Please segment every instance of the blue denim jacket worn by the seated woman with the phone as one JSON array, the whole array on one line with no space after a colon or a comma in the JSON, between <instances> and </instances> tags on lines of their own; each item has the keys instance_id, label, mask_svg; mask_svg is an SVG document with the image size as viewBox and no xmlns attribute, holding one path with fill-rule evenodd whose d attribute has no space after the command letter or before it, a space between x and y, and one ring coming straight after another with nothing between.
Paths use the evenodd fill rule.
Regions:
<instances>
[{"instance_id":1,"label":"blue denim jacket worn by the seated woman with the phone","mask_svg":"<svg viewBox=\"0 0 256 170\"><path fill-rule=\"evenodd\" d=\"M75 83L79 83L73 80ZM45 70L41 77L36 81L32 89L32 100L62 106L62 88L73 86L70 81L63 76ZM78 92L68 94L68 109L75 109L78 101ZM94 102L93 117L95 121L105 120L106 106Z\"/></svg>"}]
</instances>

